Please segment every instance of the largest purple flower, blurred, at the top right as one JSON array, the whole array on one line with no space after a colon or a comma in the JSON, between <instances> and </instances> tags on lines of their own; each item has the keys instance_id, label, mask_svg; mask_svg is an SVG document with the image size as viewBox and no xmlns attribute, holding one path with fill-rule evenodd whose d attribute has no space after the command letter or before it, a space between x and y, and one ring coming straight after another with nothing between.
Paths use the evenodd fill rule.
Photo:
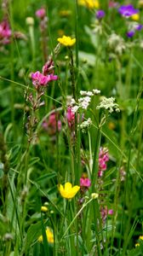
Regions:
<instances>
[{"instance_id":1,"label":"largest purple flower, blurred, at the top right","mask_svg":"<svg viewBox=\"0 0 143 256\"><path fill-rule=\"evenodd\" d=\"M132 4L127 4L120 6L118 12L120 15L123 15L124 17L130 17L132 15L136 15L137 13L139 13L139 9L134 9L134 6Z\"/></svg>"}]
</instances>

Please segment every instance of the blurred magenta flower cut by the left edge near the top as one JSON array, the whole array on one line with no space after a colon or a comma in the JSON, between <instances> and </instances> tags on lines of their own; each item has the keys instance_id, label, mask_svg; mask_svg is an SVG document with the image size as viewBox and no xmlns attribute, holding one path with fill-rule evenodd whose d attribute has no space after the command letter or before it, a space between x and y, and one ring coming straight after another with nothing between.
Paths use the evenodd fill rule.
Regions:
<instances>
[{"instance_id":1,"label":"blurred magenta flower cut by the left edge near the top","mask_svg":"<svg viewBox=\"0 0 143 256\"><path fill-rule=\"evenodd\" d=\"M9 38L11 37L11 30L7 20L3 20L0 23L0 41L2 44L9 44Z\"/></svg>"}]
</instances>

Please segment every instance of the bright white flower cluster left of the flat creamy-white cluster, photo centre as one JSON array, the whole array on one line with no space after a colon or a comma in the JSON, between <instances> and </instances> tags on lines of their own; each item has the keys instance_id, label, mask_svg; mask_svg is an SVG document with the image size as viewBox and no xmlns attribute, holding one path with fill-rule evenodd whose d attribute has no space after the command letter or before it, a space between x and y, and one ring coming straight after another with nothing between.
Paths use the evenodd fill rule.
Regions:
<instances>
[{"instance_id":1,"label":"bright white flower cluster left of the flat creamy-white cluster, photo centre","mask_svg":"<svg viewBox=\"0 0 143 256\"><path fill-rule=\"evenodd\" d=\"M91 102L91 97L98 94L100 94L100 90L97 89L92 91L81 90L80 95L82 97L80 97L77 102L75 102L74 99L71 101L72 113L76 113L78 108L86 110L89 107L89 103Z\"/></svg>"}]
</instances>

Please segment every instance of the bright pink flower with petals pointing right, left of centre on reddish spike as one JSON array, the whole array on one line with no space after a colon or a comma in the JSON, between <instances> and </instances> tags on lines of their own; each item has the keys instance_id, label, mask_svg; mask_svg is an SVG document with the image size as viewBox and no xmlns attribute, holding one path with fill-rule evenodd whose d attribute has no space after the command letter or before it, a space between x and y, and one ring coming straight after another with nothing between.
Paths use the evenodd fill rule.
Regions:
<instances>
[{"instance_id":1,"label":"bright pink flower with petals pointing right, left of centre on reddish spike","mask_svg":"<svg viewBox=\"0 0 143 256\"><path fill-rule=\"evenodd\" d=\"M57 80L58 77L53 74L44 76L43 73L37 71L36 73L31 73L32 84L38 88L40 85L47 85L50 81Z\"/></svg>"}]
</instances>

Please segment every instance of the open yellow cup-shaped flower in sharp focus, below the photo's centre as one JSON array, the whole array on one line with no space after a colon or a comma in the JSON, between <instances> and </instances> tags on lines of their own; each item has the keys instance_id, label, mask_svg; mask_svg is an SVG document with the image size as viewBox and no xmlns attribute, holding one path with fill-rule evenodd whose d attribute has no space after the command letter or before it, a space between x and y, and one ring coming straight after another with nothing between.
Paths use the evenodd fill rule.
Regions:
<instances>
[{"instance_id":1,"label":"open yellow cup-shaped flower in sharp focus, below the photo's centre","mask_svg":"<svg viewBox=\"0 0 143 256\"><path fill-rule=\"evenodd\" d=\"M71 199L74 197L79 189L79 186L72 187L72 183L65 183L65 187L63 187L61 184L59 186L60 195L66 199Z\"/></svg>"}]
</instances>

